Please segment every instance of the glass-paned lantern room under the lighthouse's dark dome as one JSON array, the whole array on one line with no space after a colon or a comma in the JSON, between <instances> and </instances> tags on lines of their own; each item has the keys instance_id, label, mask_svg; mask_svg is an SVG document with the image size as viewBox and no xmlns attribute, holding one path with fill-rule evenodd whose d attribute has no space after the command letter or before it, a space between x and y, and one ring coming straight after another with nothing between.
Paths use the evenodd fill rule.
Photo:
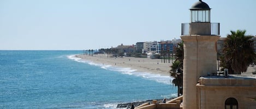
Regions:
<instances>
[{"instance_id":1,"label":"glass-paned lantern room under the lighthouse's dark dome","mask_svg":"<svg viewBox=\"0 0 256 109\"><path fill-rule=\"evenodd\" d=\"M191 10L191 22L210 22L210 10Z\"/></svg>"}]
</instances>

